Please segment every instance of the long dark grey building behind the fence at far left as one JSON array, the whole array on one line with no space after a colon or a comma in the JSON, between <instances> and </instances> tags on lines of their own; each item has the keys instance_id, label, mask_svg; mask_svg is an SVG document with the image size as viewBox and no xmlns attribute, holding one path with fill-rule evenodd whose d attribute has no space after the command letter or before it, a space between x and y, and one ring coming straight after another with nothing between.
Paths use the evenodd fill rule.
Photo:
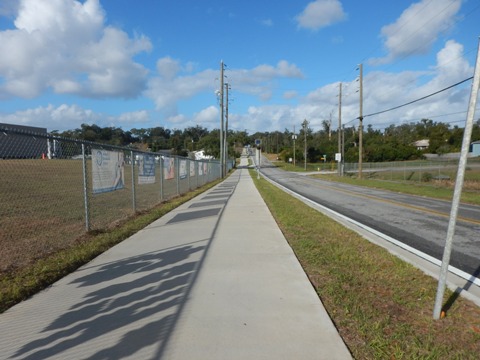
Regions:
<instances>
[{"instance_id":1,"label":"long dark grey building behind the fence at far left","mask_svg":"<svg viewBox=\"0 0 480 360\"><path fill-rule=\"evenodd\" d=\"M47 143L46 128L0 123L0 159L45 157Z\"/></svg>"}]
</instances>

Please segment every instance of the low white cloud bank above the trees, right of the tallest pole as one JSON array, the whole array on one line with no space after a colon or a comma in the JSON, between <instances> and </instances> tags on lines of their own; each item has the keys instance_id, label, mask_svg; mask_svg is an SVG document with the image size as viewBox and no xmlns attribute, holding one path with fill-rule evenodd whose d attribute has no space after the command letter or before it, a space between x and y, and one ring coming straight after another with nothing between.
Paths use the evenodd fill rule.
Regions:
<instances>
[{"instance_id":1,"label":"low white cloud bank above the trees, right of the tallest pole","mask_svg":"<svg viewBox=\"0 0 480 360\"><path fill-rule=\"evenodd\" d=\"M437 54L437 63L429 71L404 71L390 73L367 72L364 76L363 115L387 110L469 78L473 68L463 57L463 46L447 41ZM366 117L364 125L385 128L391 124L417 122L422 118L434 121L463 121L468 106L470 84L453 88L435 96L402 107L398 110ZM232 128L255 131L298 130L303 119L310 122L314 131L322 128L322 120L332 115L333 128L338 124L338 83L327 84L311 91L296 106L265 105L250 107L246 114L233 115ZM455 114L458 113L458 114ZM343 83L342 122L347 127L358 126L358 82ZM441 116L438 120L437 116Z\"/></svg>"}]
</instances>

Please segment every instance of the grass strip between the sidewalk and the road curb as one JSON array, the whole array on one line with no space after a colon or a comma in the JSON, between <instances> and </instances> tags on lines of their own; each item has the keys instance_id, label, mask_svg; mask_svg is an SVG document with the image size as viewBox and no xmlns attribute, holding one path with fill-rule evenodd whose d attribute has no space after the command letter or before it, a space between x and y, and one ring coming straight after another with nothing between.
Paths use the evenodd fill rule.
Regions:
<instances>
[{"instance_id":1,"label":"grass strip between the sidewalk and the road curb","mask_svg":"<svg viewBox=\"0 0 480 360\"><path fill-rule=\"evenodd\" d=\"M478 359L480 309L296 198L250 175L356 359Z\"/></svg>"}]
</instances>

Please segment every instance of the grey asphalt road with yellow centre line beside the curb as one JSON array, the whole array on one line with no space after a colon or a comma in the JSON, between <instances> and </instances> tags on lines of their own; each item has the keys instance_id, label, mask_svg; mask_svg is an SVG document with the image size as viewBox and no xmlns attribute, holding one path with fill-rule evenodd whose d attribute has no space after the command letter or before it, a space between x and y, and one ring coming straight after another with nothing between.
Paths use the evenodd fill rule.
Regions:
<instances>
[{"instance_id":1,"label":"grey asphalt road with yellow centre line beside the curb","mask_svg":"<svg viewBox=\"0 0 480 360\"><path fill-rule=\"evenodd\" d=\"M261 171L310 200L442 259L451 208L448 201L314 179L269 166L266 159ZM479 277L479 206L461 205L450 264Z\"/></svg>"}]
</instances>

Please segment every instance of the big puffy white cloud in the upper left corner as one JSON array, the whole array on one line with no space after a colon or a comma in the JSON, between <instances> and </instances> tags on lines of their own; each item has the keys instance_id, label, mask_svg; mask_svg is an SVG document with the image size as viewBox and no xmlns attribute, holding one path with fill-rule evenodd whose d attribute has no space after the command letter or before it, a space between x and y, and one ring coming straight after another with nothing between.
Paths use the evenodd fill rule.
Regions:
<instances>
[{"instance_id":1,"label":"big puffy white cloud in the upper left corner","mask_svg":"<svg viewBox=\"0 0 480 360\"><path fill-rule=\"evenodd\" d=\"M21 0L17 11L16 29L0 32L0 99L49 89L131 98L144 89L147 70L133 56L150 41L105 26L98 0Z\"/></svg>"}]
</instances>

